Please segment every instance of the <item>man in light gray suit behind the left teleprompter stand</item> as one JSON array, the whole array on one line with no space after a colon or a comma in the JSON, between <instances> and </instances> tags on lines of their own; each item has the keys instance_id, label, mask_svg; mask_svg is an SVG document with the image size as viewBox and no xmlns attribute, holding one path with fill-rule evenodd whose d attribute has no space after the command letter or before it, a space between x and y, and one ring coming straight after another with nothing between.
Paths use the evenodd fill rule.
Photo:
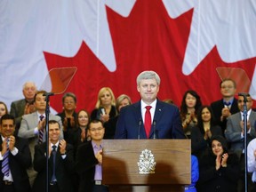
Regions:
<instances>
[{"instance_id":1,"label":"man in light gray suit behind the left teleprompter stand","mask_svg":"<svg viewBox=\"0 0 256 192\"><path fill-rule=\"evenodd\" d=\"M43 142L45 141L45 108L46 101L44 96L45 91L38 91L35 95L34 106L36 112L22 116L19 137L26 138L29 142L29 148L31 152L32 162L35 154L35 146L39 144L40 132L43 133ZM63 139L63 128L60 116L49 115L49 120L55 120L60 124L60 139ZM32 186L36 178L36 171L33 165L28 169L28 177L30 185Z\"/></svg>"}]
</instances>

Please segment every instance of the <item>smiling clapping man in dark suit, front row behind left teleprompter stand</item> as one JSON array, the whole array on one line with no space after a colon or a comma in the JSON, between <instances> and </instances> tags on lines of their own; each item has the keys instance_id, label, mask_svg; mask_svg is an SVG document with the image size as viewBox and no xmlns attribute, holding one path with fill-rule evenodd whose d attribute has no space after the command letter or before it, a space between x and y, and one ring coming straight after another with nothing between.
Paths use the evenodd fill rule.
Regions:
<instances>
[{"instance_id":1,"label":"smiling clapping man in dark suit, front row behind left teleprompter stand","mask_svg":"<svg viewBox=\"0 0 256 192\"><path fill-rule=\"evenodd\" d=\"M46 148L49 157L46 156ZM36 180L32 191L44 192L46 180L46 161L49 161L48 183L50 192L72 192L73 186L71 176L74 171L73 147L60 140L60 124L55 120L49 121L49 146L46 142L36 145L34 156L34 169L36 170ZM55 161L55 165L54 165Z\"/></svg>"}]
</instances>

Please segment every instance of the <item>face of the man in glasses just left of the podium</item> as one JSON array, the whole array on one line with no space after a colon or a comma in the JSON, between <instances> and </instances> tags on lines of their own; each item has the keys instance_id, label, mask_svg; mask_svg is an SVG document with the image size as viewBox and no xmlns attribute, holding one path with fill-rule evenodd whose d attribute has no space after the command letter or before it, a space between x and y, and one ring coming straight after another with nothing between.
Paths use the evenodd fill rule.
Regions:
<instances>
[{"instance_id":1,"label":"face of the man in glasses just left of the podium","mask_svg":"<svg viewBox=\"0 0 256 192\"><path fill-rule=\"evenodd\" d=\"M105 129L100 122L91 123L88 131L92 140L98 140L98 141L103 139L104 133L105 133Z\"/></svg>"}]
</instances>

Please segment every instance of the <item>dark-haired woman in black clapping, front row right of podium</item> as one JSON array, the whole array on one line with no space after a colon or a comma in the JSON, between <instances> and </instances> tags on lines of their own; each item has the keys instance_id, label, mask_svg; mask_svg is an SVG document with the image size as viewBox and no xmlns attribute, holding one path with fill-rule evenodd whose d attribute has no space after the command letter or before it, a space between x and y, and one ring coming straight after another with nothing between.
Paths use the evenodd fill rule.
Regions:
<instances>
[{"instance_id":1,"label":"dark-haired woman in black clapping, front row right of podium","mask_svg":"<svg viewBox=\"0 0 256 192\"><path fill-rule=\"evenodd\" d=\"M236 192L239 161L228 153L227 141L220 135L212 136L211 152L199 160L198 192Z\"/></svg>"}]
</instances>

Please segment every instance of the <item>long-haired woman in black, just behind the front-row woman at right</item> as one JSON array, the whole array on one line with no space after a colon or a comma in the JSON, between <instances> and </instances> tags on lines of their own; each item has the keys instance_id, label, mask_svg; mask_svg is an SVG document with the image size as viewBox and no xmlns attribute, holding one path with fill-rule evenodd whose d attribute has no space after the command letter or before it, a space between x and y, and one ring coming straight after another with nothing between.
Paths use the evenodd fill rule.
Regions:
<instances>
[{"instance_id":1,"label":"long-haired woman in black, just behind the front-row woman at right","mask_svg":"<svg viewBox=\"0 0 256 192\"><path fill-rule=\"evenodd\" d=\"M209 150L212 136L222 136L222 131L219 125L214 124L212 108L210 106L199 108L197 120L197 125L193 127L191 132L191 145L192 153L200 158Z\"/></svg>"}]
</instances>

